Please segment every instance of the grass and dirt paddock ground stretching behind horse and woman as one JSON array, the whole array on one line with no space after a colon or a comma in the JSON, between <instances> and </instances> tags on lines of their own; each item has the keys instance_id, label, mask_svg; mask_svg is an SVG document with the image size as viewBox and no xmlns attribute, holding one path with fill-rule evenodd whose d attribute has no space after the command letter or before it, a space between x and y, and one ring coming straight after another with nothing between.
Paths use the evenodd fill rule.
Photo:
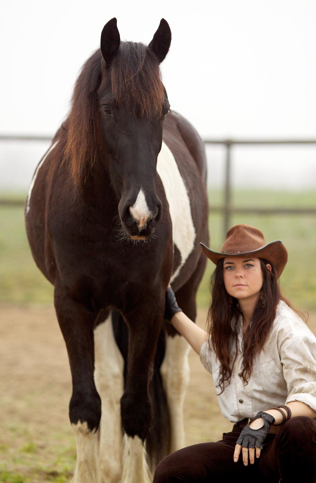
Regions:
<instances>
[{"instance_id":1,"label":"grass and dirt paddock ground stretching behind horse and woman","mask_svg":"<svg viewBox=\"0 0 316 483\"><path fill-rule=\"evenodd\" d=\"M220 204L220 196L219 191L211 191L210 204ZM236 191L233 202L236 206L315 207L316 197L313 192ZM68 419L69 363L52 307L53 289L31 257L23 209L0 208L0 220L0 482L66 483L76 449ZM309 326L316 331L316 218L245 213L232 218L231 225L236 223L260 228L267 242L285 243L289 263L281 288L298 309L310 311ZM223 242L222 225L219 214L209 216L210 245L215 250ZM209 262L198 294L201 326L212 270ZM190 365L187 444L217 440L231 424L221 416L210 375L193 351Z\"/></svg>"}]
</instances>

